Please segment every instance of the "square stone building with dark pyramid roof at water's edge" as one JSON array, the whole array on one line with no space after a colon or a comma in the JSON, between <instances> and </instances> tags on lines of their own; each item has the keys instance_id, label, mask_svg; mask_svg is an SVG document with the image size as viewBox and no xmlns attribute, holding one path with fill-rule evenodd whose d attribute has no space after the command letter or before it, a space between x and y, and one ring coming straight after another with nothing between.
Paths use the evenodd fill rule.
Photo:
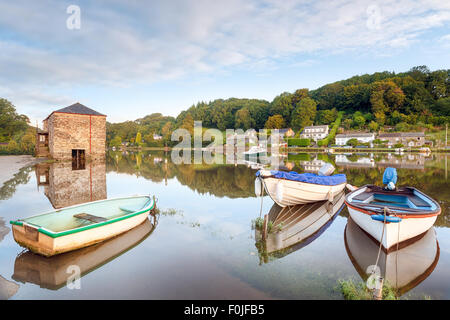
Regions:
<instances>
[{"instance_id":1,"label":"square stone building with dark pyramid roof at water's edge","mask_svg":"<svg viewBox=\"0 0 450 320\"><path fill-rule=\"evenodd\" d=\"M104 159L106 116L80 103L53 111L37 131L36 155L56 160Z\"/></svg>"}]
</instances>

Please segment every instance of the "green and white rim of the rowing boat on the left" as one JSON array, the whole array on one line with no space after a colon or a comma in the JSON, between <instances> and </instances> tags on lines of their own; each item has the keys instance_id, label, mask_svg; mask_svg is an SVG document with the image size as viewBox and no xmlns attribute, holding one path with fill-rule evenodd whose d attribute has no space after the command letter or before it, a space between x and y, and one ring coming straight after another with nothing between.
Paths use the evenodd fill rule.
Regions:
<instances>
[{"instance_id":1,"label":"green and white rim of the rowing boat on the left","mask_svg":"<svg viewBox=\"0 0 450 320\"><path fill-rule=\"evenodd\" d=\"M78 232L82 232L82 231L86 231L86 230L102 227L104 225L108 225L108 224L111 224L111 223L114 223L114 222L122 221L122 220L125 220L125 219L132 218L134 216L143 214L143 213L145 213L147 211L150 211L150 210L152 210L154 208L155 201L149 195L136 195L136 196L130 196L130 197L119 197L119 198L112 198L112 199L103 199L103 200L97 200L97 201L92 201L92 202L86 202L86 203L83 203L83 204L77 204L77 205L73 205L73 206L70 206L70 207L61 208L61 209L58 209L58 210L48 211L48 212L45 212L45 213L37 214L37 215L30 216L30 217L26 218L26 219L30 219L30 218L34 218L34 217L39 217L39 216L42 216L42 215L45 215L45 214L49 214L49 213L52 213L52 212L59 212L59 211L65 210L65 209L77 208L77 207L81 207L81 206L88 205L88 204L93 204L93 203L106 202L106 201L112 201L112 200L120 200L120 199L139 198L139 197L149 198L151 203L149 205L145 206L143 209L141 209L139 211L136 211L136 212L131 212L129 214L126 214L126 215L123 215L123 216L120 216L120 217L117 217L117 218L114 218L114 219L111 219L111 220L97 222L97 223L93 223L93 224L90 224L90 225L87 225L87 226L73 228L73 229L69 229L69 230L54 232L54 231L49 230L49 229L47 229L45 227L42 227L42 226L39 226L39 225L36 225L36 224L33 224L33 223L29 223L29 222L26 222L26 221L21 221L20 219L19 220L11 220L10 224L16 225L16 226L23 226L23 225L28 225L28 226L31 226L31 227L35 226L35 227L38 227L38 228L36 228L36 230L38 232L40 232L42 234L45 234L45 235L47 235L47 236L49 236L51 238L59 238L59 237L63 237L63 236L69 235L69 234L78 233Z\"/></svg>"}]
</instances>

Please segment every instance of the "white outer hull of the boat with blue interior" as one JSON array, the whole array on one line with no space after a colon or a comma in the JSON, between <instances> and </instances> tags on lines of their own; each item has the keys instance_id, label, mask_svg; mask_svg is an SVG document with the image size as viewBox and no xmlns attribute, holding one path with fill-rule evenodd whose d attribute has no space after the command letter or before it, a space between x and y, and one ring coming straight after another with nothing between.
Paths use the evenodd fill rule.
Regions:
<instances>
[{"instance_id":1,"label":"white outer hull of the boat with blue interior","mask_svg":"<svg viewBox=\"0 0 450 320\"><path fill-rule=\"evenodd\" d=\"M384 222L375 221L371 218L370 214L350 205L348 205L348 211L353 221L376 241L381 243L386 251L395 249L397 244L400 245L401 243L420 236L428 231L437 219L437 216L435 215L402 219L402 221L398 223L386 223L384 235L383 238L381 238Z\"/></svg>"}]
</instances>

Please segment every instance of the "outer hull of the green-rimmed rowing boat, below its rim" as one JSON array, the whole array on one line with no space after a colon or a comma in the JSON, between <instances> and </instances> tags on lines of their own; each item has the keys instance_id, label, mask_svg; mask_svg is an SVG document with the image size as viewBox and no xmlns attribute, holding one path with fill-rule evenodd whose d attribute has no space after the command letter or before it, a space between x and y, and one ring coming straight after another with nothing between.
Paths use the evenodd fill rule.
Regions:
<instances>
[{"instance_id":1,"label":"outer hull of the green-rimmed rowing boat, below its rim","mask_svg":"<svg viewBox=\"0 0 450 320\"><path fill-rule=\"evenodd\" d=\"M14 240L20 246L50 257L84 248L122 234L143 223L149 212L150 209L127 219L60 237L50 237L44 233L30 230L25 224L13 225L12 230Z\"/></svg>"}]
</instances>

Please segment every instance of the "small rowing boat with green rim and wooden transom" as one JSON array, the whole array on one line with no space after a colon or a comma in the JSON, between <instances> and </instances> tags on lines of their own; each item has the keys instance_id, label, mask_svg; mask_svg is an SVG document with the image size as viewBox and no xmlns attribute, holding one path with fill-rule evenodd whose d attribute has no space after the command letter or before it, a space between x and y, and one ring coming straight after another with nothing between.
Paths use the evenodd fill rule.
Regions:
<instances>
[{"instance_id":1,"label":"small rowing boat with green rim and wooden transom","mask_svg":"<svg viewBox=\"0 0 450 320\"><path fill-rule=\"evenodd\" d=\"M87 202L11 221L14 240L44 256L93 245L140 225L155 206L150 196Z\"/></svg>"}]
</instances>

